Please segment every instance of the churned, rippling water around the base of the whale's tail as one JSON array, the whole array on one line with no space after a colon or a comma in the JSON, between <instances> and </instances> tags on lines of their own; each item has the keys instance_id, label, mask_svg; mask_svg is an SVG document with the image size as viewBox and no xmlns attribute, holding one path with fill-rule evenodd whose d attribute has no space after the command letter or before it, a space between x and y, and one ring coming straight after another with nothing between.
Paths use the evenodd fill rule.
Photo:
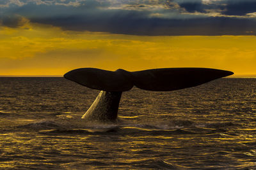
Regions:
<instances>
[{"instance_id":1,"label":"churned, rippling water around the base of the whale's tail","mask_svg":"<svg viewBox=\"0 0 256 170\"><path fill-rule=\"evenodd\" d=\"M138 135L158 134L216 134L227 132L227 128L236 126L232 122L218 122L211 124L196 124L189 120L169 120L155 122L132 122L118 120L118 122L84 122L81 118L70 115L58 116L17 125L15 129L28 129L44 134L99 134L120 133Z\"/></svg>"}]
</instances>

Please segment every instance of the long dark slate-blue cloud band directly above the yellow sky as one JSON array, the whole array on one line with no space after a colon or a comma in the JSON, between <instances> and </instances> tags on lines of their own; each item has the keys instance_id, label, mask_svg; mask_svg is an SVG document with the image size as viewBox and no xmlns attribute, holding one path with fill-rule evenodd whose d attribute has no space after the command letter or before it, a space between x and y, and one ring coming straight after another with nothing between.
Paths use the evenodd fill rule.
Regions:
<instances>
[{"instance_id":1,"label":"long dark slate-blue cloud band directly above the yellow sky","mask_svg":"<svg viewBox=\"0 0 256 170\"><path fill-rule=\"evenodd\" d=\"M109 18L33 18L32 22L51 24L71 31L111 32L141 36L220 36L256 35L256 20L209 17L189 20L134 18L130 15Z\"/></svg>"}]
</instances>

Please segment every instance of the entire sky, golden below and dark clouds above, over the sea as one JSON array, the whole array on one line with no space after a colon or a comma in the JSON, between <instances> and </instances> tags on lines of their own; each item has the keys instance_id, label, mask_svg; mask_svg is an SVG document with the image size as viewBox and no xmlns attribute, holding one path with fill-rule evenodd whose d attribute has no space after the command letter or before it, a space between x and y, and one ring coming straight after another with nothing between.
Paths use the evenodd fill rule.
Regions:
<instances>
[{"instance_id":1,"label":"entire sky, golden below and dark clouds above, over the sea","mask_svg":"<svg viewBox=\"0 0 256 170\"><path fill-rule=\"evenodd\" d=\"M256 74L255 0L1 0L0 75L211 67Z\"/></svg>"}]
</instances>

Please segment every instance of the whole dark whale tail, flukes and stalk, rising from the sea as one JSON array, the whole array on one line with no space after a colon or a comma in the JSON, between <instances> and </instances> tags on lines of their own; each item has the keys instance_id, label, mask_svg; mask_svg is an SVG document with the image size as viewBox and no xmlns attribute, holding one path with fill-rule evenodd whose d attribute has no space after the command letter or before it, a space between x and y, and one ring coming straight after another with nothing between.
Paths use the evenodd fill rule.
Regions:
<instances>
[{"instance_id":1,"label":"whole dark whale tail, flukes and stalk, rising from the sea","mask_svg":"<svg viewBox=\"0 0 256 170\"><path fill-rule=\"evenodd\" d=\"M211 68L180 67L147 69L143 71L106 71L97 68L79 68L64 74L91 89L101 90L92 106L84 113L86 120L115 122L122 92L133 86L143 90L171 91L202 85L217 78L232 75L231 71Z\"/></svg>"}]
</instances>

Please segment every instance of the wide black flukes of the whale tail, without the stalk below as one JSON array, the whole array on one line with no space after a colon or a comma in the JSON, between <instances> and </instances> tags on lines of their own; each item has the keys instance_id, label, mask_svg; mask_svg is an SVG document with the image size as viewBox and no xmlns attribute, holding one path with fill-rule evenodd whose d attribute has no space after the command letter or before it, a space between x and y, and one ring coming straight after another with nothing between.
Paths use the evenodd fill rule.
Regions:
<instances>
[{"instance_id":1,"label":"wide black flukes of the whale tail, without the stalk below","mask_svg":"<svg viewBox=\"0 0 256 170\"><path fill-rule=\"evenodd\" d=\"M91 89L108 92L124 92L135 85L143 90L171 91L194 87L217 78L229 76L231 71L209 68L162 68L129 72L124 69L106 71L96 68L80 68L64 75Z\"/></svg>"}]
</instances>

